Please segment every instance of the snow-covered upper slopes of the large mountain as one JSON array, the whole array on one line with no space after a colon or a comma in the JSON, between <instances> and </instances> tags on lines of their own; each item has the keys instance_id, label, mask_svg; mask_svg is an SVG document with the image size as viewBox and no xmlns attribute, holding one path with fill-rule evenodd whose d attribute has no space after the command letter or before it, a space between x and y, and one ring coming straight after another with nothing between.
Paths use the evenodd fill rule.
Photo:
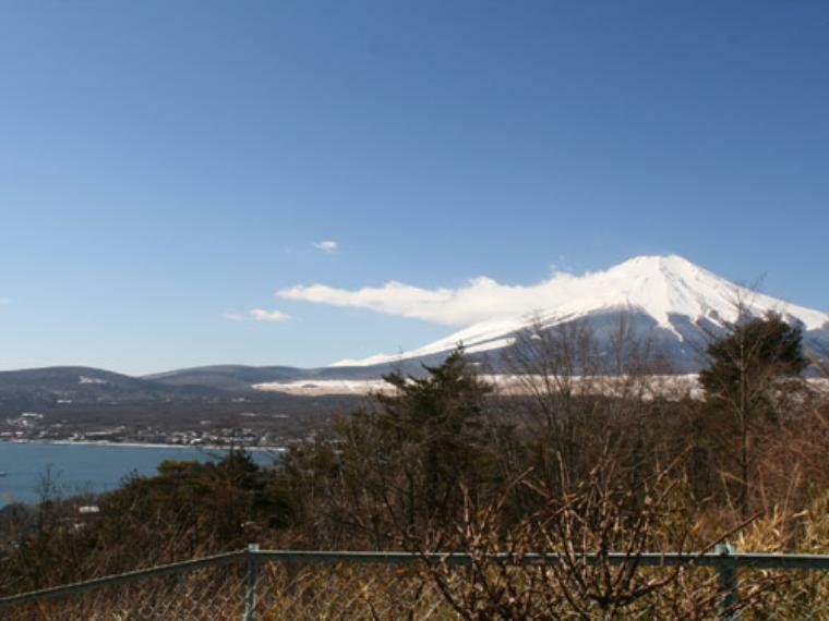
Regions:
<instances>
[{"instance_id":1,"label":"snow-covered upper slopes of the large mountain","mask_svg":"<svg viewBox=\"0 0 829 621\"><path fill-rule=\"evenodd\" d=\"M709 331L737 318L742 305L753 316L779 313L801 327L804 341L829 344L829 314L756 293L730 282L687 259L641 256L606 271L581 277L558 275L549 283L545 307L527 308L520 315L496 317L474 324L423 348L396 355L346 360L336 367L386 365L398 361L435 360L462 343L468 354L489 352L490 357L509 348L516 336L530 327L551 328L587 319L601 330L624 314L629 324L647 330L673 358L677 369L699 366L700 326Z\"/></svg>"}]
</instances>

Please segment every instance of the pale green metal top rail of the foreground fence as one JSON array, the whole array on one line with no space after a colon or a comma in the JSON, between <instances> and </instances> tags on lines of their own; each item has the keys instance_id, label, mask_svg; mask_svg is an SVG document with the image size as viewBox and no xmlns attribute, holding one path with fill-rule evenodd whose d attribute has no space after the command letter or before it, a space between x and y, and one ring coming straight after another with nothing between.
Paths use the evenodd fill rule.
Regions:
<instances>
[{"instance_id":1,"label":"pale green metal top rail of the foreground fence","mask_svg":"<svg viewBox=\"0 0 829 621\"><path fill-rule=\"evenodd\" d=\"M570 559L577 562L594 563L602 557L594 553L576 555ZM636 563L639 567L670 567L677 564L694 564L699 567L736 567L754 569L802 569L829 571L829 555L777 555L777 553L723 553L707 552L704 555L694 552L646 552L641 555L627 555L624 552L611 552L606 555L606 561L611 564ZM531 564L557 564L562 555L556 553L526 553L526 555L492 555L493 561L514 563L516 565ZM247 550L238 550L201 559L192 559L177 563L158 565L149 569L131 571L117 575L87 580L73 584L21 593L0 598L0 608L24 604L37 599L48 599L125 584L140 580L158 577L163 575L188 573L200 569L219 567L243 561L272 561L289 563L317 563L317 564L416 564L420 562L446 562L453 565L469 565L472 557L462 552L371 552L371 551L314 551L314 550L260 550L251 546Z\"/></svg>"}]
</instances>

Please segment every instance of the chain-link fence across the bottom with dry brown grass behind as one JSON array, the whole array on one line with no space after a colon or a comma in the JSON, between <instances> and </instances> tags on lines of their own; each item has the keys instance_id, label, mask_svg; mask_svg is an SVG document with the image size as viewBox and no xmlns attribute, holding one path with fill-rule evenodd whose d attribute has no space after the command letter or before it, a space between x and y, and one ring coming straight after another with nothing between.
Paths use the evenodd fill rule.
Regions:
<instances>
[{"instance_id":1,"label":"chain-link fence across the bottom with dry brown grass behind","mask_svg":"<svg viewBox=\"0 0 829 621\"><path fill-rule=\"evenodd\" d=\"M675 580L616 609L624 619L829 619L829 556L610 555ZM606 618L606 606L563 593L550 555L249 550L0 599L16 620L288 620ZM562 572L565 572L564 574ZM605 570L599 568L597 574ZM585 574L588 575L588 574ZM584 575L577 576L584 580ZM579 585L573 583L574 590ZM606 602L605 602L606 604ZM579 608L580 607L580 608ZM614 617L615 617L614 616Z\"/></svg>"}]
</instances>

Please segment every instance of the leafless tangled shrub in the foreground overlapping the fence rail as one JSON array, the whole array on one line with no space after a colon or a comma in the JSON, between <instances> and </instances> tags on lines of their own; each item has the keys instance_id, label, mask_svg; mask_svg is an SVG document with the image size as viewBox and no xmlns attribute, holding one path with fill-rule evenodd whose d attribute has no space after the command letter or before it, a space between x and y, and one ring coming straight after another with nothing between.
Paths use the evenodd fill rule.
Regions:
<instances>
[{"instance_id":1,"label":"leafless tangled shrub in the foreground overlapping the fence rail","mask_svg":"<svg viewBox=\"0 0 829 621\"><path fill-rule=\"evenodd\" d=\"M684 565L650 570L641 564L645 552L666 546L684 553L690 538L689 523L676 522L687 509L674 476L680 461L635 480L604 460L565 496L531 471L486 506L466 494L454 529L433 533L429 547L419 548L423 580L470 620L610 619L621 613L706 618L721 604L716 580L690 580L686 570L728 534L688 552ZM512 524L504 509L520 488L537 495L540 508ZM430 553L444 550L467 552L468 565Z\"/></svg>"}]
</instances>

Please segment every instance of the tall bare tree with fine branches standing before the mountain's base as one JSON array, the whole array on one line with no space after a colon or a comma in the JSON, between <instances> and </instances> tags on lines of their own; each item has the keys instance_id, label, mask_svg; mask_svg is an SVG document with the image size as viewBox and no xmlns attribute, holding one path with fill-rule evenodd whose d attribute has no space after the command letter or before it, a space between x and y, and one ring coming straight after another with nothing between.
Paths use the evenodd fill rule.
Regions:
<instances>
[{"instance_id":1,"label":"tall bare tree with fine branches standing before the mountain's base","mask_svg":"<svg viewBox=\"0 0 829 621\"><path fill-rule=\"evenodd\" d=\"M605 446L638 443L645 456L644 435L669 368L650 334L634 330L624 314L603 341L587 319L537 319L505 363L515 386L508 407L522 413L530 463L552 486L565 492L588 476Z\"/></svg>"}]
</instances>

